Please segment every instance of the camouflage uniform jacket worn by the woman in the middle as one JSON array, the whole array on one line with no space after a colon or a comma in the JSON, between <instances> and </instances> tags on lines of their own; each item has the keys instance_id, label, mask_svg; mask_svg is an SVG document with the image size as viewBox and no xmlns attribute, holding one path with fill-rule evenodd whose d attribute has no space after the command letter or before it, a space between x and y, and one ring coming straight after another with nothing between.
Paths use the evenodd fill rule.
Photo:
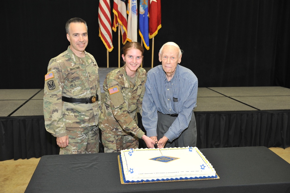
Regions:
<instances>
[{"instance_id":1,"label":"camouflage uniform jacket worn by the woman in the middle","mask_svg":"<svg viewBox=\"0 0 290 193\"><path fill-rule=\"evenodd\" d=\"M142 100L147 73L139 67L135 85L128 79L125 66L109 72L104 81L105 100L99 128L111 135L133 135L141 138L144 132L137 126L137 107L142 115Z\"/></svg>"}]
</instances>

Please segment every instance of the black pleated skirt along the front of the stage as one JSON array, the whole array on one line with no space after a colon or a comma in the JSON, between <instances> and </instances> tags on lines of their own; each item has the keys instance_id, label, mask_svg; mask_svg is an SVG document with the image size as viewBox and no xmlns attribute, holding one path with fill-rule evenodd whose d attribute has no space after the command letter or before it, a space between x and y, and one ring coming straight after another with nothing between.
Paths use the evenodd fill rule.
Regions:
<instances>
[{"instance_id":1,"label":"black pleated skirt along the front of the stage","mask_svg":"<svg viewBox=\"0 0 290 193\"><path fill-rule=\"evenodd\" d=\"M289 111L195 112L197 148L290 146ZM141 115L138 127L145 133ZM101 132L100 132L100 139ZM104 146L99 144L100 151ZM139 148L146 148L139 140ZM43 116L0 117L0 161L59 154L56 138L44 128Z\"/></svg>"}]
</instances>

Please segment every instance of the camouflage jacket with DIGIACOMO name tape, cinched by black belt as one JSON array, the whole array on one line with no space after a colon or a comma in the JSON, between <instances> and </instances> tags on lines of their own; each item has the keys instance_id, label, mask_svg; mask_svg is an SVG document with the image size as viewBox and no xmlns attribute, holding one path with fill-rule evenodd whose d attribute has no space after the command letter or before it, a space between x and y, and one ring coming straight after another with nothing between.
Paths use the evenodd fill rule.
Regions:
<instances>
[{"instance_id":1,"label":"camouflage jacket with DIGIACOMO name tape, cinched by black belt","mask_svg":"<svg viewBox=\"0 0 290 193\"><path fill-rule=\"evenodd\" d=\"M85 52L86 61L77 57L70 46L52 58L48 64L48 74L44 84L45 128L55 137L66 136L66 127L89 127L97 125L102 109L99 88L98 65L95 58ZM69 103L61 100L69 98L89 98L98 94L95 103Z\"/></svg>"}]
</instances>

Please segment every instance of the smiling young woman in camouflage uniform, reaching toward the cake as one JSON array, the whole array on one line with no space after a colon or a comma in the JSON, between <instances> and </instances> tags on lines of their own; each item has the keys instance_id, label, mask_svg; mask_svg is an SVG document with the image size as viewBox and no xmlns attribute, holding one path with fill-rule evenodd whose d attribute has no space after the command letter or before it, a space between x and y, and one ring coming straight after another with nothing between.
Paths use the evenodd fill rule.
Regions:
<instances>
[{"instance_id":1,"label":"smiling young woman in camouflage uniform, reaching toward the cake","mask_svg":"<svg viewBox=\"0 0 290 193\"><path fill-rule=\"evenodd\" d=\"M99 120L104 152L138 148L142 138L148 148L154 142L137 126L137 107L142 115L142 100L147 73L140 65L144 49L138 42L122 48L124 66L109 72L104 81L105 100Z\"/></svg>"}]
</instances>

